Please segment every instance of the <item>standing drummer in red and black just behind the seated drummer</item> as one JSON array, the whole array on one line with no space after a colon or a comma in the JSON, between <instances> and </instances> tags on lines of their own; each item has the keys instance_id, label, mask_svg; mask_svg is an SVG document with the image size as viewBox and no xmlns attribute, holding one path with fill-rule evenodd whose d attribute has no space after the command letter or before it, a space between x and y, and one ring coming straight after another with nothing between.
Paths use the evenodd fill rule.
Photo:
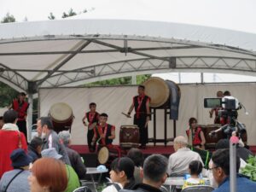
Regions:
<instances>
[{"instance_id":1,"label":"standing drummer in red and black just behind the seated drummer","mask_svg":"<svg viewBox=\"0 0 256 192\"><path fill-rule=\"evenodd\" d=\"M96 112L96 103L95 102L90 102L89 108L90 108L90 111L85 113L85 116L82 119L82 121L85 126L88 126L87 143L88 143L89 151L94 152L96 149L96 146L91 145L91 142L92 142L92 138L94 136L93 129L96 127L96 125L99 121L99 113ZM88 120L89 125L86 124L85 119Z\"/></svg>"}]
</instances>

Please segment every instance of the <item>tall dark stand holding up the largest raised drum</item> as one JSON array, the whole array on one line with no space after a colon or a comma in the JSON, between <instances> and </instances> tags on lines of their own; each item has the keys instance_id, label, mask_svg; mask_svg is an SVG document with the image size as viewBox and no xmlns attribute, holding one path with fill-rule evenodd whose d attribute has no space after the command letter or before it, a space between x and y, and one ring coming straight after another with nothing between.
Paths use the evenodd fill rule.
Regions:
<instances>
[{"instance_id":1,"label":"tall dark stand holding up the largest raised drum","mask_svg":"<svg viewBox=\"0 0 256 192\"><path fill-rule=\"evenodd\" d=\"M165 124L164 124L164 131L165 131L165 136L164 139L157 139L156 138L156 110L157 109L164 109L165 112ZM154 137L153 138L148 138L149 143L165 143L168 142L173 142L174 138L176 137L176 120L173 120L173 137L172 138L167 138L167 115L170 115L170 108L150 108L150 113L153 114L153 129L154 129Z\"/></svg>"}]
</instances>

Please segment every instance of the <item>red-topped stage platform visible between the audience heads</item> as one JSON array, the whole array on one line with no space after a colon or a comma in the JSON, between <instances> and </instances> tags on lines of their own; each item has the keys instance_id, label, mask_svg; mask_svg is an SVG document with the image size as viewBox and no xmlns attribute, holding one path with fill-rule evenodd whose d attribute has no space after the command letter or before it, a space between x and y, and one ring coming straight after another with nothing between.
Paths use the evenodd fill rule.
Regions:
<instances>
[{"instance_id":1,"label":"red-topped stage platform visible between the audience heads","mask_svg":"<svg viewBox=\"0 0 256 192\"><path fill-rule=\"evenodd\" d=\"M73 145L71 148L76 150L84 158L85 166L98 166L97 154L90 153L87 145ZM143 151L144 157L147 157L150 154L163 154L166 157L169 157L170 154L174 153L174 148L172 145L166 147L161 145L148 145L147 148L141 150ZM256 146L250 146L250 150L253 152L253 154L256 154Z\"/></svg>"}]
</instances>

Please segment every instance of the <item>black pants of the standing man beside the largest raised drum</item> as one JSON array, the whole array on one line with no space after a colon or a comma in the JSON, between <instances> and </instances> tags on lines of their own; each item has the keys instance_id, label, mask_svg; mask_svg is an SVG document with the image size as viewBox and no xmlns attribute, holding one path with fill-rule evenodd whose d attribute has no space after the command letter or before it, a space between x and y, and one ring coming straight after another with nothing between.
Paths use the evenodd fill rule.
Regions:
<instances>
[{"instance_id":1,"label":"black pants of the standing man beside the largest raised drum","mask_svg":"<svg viewBox=\"0 0 256 192\"><path fill-rule=\"evenodd\" d=\"M147 114L140 114L137 119L137 115L134 115L133 123L139 127L140 131L140 143L146 145L148 143L148 125L145 127L147 121Z\"/></svg>"}]
</instances>

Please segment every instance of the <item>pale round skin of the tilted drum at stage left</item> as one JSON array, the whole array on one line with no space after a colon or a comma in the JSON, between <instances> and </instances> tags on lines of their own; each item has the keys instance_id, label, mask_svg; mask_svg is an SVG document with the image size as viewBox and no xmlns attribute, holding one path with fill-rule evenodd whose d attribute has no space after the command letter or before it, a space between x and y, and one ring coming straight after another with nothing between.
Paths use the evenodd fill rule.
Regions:
<instances>
[{"instance_id":1,"label":"pale round skin of the tilted drum at stage left","mask_svg":"<svg viewBox=\"0 0 256 192\"><path fill-rule=\"evenodd\" d=\"M72 108L65 102L57 102L49 109L50 117L61 122L73 116Z\"/></svg>"}]
</instances>

